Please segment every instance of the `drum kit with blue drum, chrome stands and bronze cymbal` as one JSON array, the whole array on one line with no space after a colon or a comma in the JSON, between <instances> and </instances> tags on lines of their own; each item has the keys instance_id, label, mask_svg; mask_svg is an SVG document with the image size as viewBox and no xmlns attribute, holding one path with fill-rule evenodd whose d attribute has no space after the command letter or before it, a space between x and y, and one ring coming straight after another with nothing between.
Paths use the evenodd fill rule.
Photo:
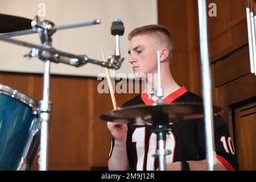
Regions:
<instances>
[{"instance_id":1,"label":"drum kit with blue drum, chrome stands and bronze cymbal","mask_svg":"<svg viewBox=\"0 0 256 182\"><path fill-rule=\"evenodd\" d=\"M111 32L115 36L115 53L107 61L90 59L86 55L58 51L52 48L51 36L57 30L89 26L100 23L100 19L91 22L55 26L52 22L39 17L30 20L18 16L0 14L0 40L32 48L28 57L38 57L44 61L43 100L35 101L6 85L0 85L0 170L29 170L40 144L39 170L48 170L48 135L49 121L52 113L52 102L49 100L50 62L64 63L81 67L86 63L101 65L105 68L118 69L124 58L119 51L119 36L124 27L121 19L115 19ZM11 39L11 36L38 33L43 46ZM159 59L158 59L159 60ZM160 69L160 67L159 67ZM158 71L160 74L160 70ZM160 76L159 76L160 78ZM160 80L159 80L160 83ZM164 104L163 89L158 84L156 89L158 101L153 105L136 105L122 107L102 114L105 121L118 123L144 123L152 125L156 133L158 149L154 157L159 160L159 170L166 169L166 155L171 151L165 149L166 134L170 131L170 123L203 118L204 105L198 103L179 102ZM214 114L220 114L220 107L213 107Z\"/></svg>"}]
</instances>

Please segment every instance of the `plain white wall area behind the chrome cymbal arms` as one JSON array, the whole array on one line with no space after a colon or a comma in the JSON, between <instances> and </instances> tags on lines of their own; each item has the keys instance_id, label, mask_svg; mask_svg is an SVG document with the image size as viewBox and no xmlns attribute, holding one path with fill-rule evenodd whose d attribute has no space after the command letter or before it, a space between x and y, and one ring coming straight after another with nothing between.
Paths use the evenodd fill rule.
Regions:
<instances>
[{"instance_id":1,"label":"plain white wall area behind the chrome cymbal arms","mask_svg":"<svg viewBox=\"0 0 256 182\"><path fill-rule=\"evenodd\" d=\"M136 27L146 24L157 24L156 0L0 0L0 13L22 16L33 19L41 12L39 4L45 3L46 16L40 19L51 20L55 25L86 22L101 19L101 24L59 30L53 36L53 47L77 55L86 54L92 59L102 60L100 46L106 56L114 53L114 36L110 34L111 23L121 18L125 26L125 34L121 36L121 55L125 56L122 67L115 73L133 73L128 62L127 35ZM26 42L40 45L37 34L13 37ZM23 55L30 48L16 46L0 41L0 71L42 73L42 61L33 58L27 60ZM86 64L75 68L65 64L51 64L51 73L57 75L94 76L104 73L105 69L98 65Z\"/></svg>"}]
</instances>

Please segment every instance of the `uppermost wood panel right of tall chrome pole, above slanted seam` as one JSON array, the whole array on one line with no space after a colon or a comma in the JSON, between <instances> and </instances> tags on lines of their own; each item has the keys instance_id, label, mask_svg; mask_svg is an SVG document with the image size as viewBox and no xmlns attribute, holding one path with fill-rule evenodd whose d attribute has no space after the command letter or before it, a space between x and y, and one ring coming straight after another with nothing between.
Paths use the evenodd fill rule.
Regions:
<instances>
[{"instance_id":1,"label":"uppermost wood panel right of tall chrome pole, above slanted seam","mask_svg":"<svg viewBox=\"0 0 256 182\"><path fill-rule=\"evenodd\" d=\"M244 0L213 0L217 16L208 16L210 60L244 46L247 40L246 2Z\"/></svg>"}]
</instances>

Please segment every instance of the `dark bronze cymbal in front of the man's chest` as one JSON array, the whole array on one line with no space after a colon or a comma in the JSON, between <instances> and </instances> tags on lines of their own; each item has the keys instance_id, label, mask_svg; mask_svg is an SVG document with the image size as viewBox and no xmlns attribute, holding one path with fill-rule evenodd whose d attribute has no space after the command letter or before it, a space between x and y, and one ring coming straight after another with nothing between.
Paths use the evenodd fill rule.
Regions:
<instances>
[{"instance_id":1,"label":"dark bronze cymbal in front of the man's chest","mask_svg":"<svg viewBox=\"0 0 256 182\"><path fill-rule=\"evenodd\" d=\"M222 109L213 106L214 115L220 114ZM179 121L204 117L204 105L191 102L172 102L171 104L134 105L121 107L100 115L105 121L117 123L134 123L152 125L158 123L166 125Z\"/></svg>"}]
</instances>

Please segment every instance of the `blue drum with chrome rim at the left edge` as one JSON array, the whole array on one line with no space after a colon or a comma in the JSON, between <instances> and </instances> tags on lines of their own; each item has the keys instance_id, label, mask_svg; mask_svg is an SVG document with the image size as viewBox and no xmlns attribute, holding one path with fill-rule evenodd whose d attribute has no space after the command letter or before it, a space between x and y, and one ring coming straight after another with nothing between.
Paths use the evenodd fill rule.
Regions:
<instances>
[{"instance_id":1,"label":"blue drum with chrome rim at the left edge","mask_svg":"<svg viewBox=\"0 0 256 182\"><path fill-rule=\"evenodd\" d=\"M0 84L0 170L29 170L40 139L38 102Z\"/></svg>"}]
</instances>

